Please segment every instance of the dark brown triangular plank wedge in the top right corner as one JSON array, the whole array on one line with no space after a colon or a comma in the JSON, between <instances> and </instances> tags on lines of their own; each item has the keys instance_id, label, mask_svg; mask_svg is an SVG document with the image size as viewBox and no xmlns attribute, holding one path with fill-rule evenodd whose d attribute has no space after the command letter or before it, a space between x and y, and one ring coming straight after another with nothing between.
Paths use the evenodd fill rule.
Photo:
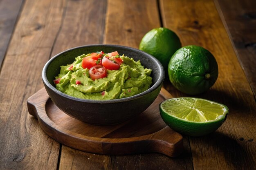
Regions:
<instances>
[{"instance_id":1,"label":"dark brown triangular plank wedge in the top right corner","mask_svg":"<svg viewBox=\"0 0 256 170\"><path fill-rule=\"evenodd\" d=\"M215 0L215 4L256 99L256 1Z\"/></svg>"}]
</instances>

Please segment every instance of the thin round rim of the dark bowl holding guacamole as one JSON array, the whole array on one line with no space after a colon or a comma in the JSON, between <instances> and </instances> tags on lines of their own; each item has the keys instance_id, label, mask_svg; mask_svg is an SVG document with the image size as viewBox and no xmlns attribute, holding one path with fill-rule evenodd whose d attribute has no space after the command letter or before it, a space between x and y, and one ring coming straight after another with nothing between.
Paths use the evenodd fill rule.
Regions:
<instances>
[{"instance_id":1,"label":"thin round rim of the dark bowl holding guacamole","mask_svg":"<svg viewBox=\"0 0 256 170\"><path fill-rule=\"evenodd\" d=\"M47 71L47 68L48 68L49 64L53 60L55 60L59 55L61 55L63 53L66 53L68 51L72 51L74 49L79 49L79 48L91 47L91 46L119 47L119 48L129 49L131 51L139 52L139 53L142 53L144 55L148 55L149 57L151 57L151 59L153 59L154 62L157 63L157 66L159 67L159 72L160 72L159 75L160 76L158 77L157 81L155 82L155 84L153 86L151 86L150 88L148 88L148 90L146 90L142 93L139 93L137 95L133 95L133 96L130 96L130 97L124 97L124 98L121 98L121 99L111 99L111 100L92 100L92 99L81 99L81 98L77 98L77 97L72 97L70 95L67 95L67 94L61 92L61 91L58 91L52 84L50 84L50 82L48 81L47 76L46 76L46 71ZM62 51L61 53L58 53L58 54L54 55L54 57L52 57L50 60L48 60L45 64L45 66L43 67L43 71L42 71L43 83L45 84L45 86L47 86L52 91L54 91L54 93L57 93L58 95L61 95L62 97L65 97L67 99L72 99L72 100L77 101L77 102L90 102L92 104L119 103L119 102L126 102L126 101L130 101L130 100L134 100L134 99L143 97L144 95L156 90L160 85L162 85L162 83L164 81L164 77L165 77L164 68L163 68L162 64L155 57L153 57L152 55L150 55L150 54L148 54L144 51L141 51L139 49L135 49L135 48L132 48L132 47L129 47L129 46L115 45L115 44L90 44L90 45L76 46L76 47L73 47L71 49L67 49L65 51Z\"/></svg>"}]
</instances>

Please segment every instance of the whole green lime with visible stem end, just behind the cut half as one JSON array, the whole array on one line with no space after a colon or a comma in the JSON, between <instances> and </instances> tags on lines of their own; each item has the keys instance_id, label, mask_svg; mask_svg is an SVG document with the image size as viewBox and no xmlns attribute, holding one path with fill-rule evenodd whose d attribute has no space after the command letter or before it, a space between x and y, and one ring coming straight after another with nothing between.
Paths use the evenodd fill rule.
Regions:
<instances>
[{"instance_id":1,"label":"whole green lime with visible stem end, just behind the cut half","mask_svg":"<svg viewBox=\"0 0 256 170\"><path fill-rule=\"evenodd\" d=\"M175 88L189 95L207 91L218 78L218 64L201 46L184 46L177 50L168 65L168 75Z\"/></svg>"}]
</instances>

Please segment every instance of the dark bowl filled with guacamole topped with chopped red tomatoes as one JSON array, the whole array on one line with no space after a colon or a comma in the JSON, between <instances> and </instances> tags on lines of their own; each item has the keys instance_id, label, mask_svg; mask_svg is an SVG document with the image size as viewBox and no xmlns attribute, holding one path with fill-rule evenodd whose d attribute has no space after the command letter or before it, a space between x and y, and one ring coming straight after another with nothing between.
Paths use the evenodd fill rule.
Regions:
<instances>
[{"instance_id":1,"label":"dark bowl filled with guacamole topped with chopped red tomatoes","mask_svg":"<svg viewBox=\"0 0 256 170\"><path fill-rule=\"evenodd\" d=\"M164 69L155 57L127 46L95 44L63 51L42 79L64 113L94 125L113 125L142 113L159 94Z\"/></svg>"}]
</instances>

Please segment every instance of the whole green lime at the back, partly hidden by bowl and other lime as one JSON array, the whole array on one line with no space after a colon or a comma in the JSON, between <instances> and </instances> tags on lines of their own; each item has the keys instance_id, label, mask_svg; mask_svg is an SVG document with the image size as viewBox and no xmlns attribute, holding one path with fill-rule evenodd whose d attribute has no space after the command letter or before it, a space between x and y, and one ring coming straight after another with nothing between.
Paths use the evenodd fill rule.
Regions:
<instances>
[{"instance_id":1,"label":"whole green lime at the back, partly hidden by bowl and other lime","mask_svg":"<svg viewBox=\"0 0 256 170\"><path fill-rule=\"evenodd\" d=\"M139 44L139 49L156 57L166 72L171 56L180 47L179 37L167 28L152 29L144 35Z\"/></svg>"}]
</instances>

